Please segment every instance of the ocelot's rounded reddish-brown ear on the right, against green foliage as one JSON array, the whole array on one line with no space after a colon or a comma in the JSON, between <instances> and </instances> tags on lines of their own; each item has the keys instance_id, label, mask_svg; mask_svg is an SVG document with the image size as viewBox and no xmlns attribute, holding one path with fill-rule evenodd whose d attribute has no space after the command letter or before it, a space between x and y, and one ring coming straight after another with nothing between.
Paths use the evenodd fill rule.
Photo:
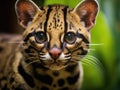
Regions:
<instances>
[{"instance_id":1,"label":"ocelot's rounded reddish-brown ear on the right, against green foliage","mask_svg":"<svg viewBox=\"0 0 120 90\"><path fill-rule=\"evenodd\" d=\"M88 31L94 26L98 13L98 3L96 0L84 0L74 9L74 12L85 23Z\"/></svg>"}]
</instances>

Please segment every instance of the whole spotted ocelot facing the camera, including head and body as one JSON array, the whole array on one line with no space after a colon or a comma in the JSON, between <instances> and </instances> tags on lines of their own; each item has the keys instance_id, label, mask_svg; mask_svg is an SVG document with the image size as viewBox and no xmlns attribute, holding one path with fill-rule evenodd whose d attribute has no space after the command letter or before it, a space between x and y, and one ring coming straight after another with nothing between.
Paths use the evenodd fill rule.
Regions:
<instances>
[{"instance_id":1,"label":"whole spotted ocelot facing the camera, including head and body","mask_svg":"<svg viewBox=\"0 0 120 90\"><path fill-rule=\"evenodd\" d=\"M0 36L0 90L80 90L80 60L89 51L98 8L96 0L83 0L74 9L17 0L25 30L21 36Z\"/></svg>"}]
</instances>

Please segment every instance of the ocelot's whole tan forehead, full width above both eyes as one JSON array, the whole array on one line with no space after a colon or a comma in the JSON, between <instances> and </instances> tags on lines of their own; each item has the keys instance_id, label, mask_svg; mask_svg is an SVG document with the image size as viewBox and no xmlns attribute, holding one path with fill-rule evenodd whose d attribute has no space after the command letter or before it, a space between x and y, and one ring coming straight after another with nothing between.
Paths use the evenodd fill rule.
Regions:
<instances>
[{"instance_id":1,"label":"ocelot's whole tan forehead, full width above both eyes","mask_svg":"<svg viewBox=\"0 0 120 90\"><path fill-rule=\"evenodd\" d=\"M80 30L84 33L84 26L80 23L80 18L72 13L73 9L63 5L52 5L40 8L40 11L34 17L31 25L25 31L34 30L47 32L49 34L59 35L64 32Z\"/></svg>"}]
</instances>

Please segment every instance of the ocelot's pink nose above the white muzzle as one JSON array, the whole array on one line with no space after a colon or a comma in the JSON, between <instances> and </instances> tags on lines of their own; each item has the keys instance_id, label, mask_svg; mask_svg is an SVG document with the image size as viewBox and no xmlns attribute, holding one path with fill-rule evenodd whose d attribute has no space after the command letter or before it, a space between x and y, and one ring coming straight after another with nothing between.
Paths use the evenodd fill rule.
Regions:
<instances>
[{"instance_id":1,"label":"ocelot's pink nose above the white muzzle","mask_svg":"<svg viewBox=\"0 0 120 90\"><path fill-rule=\"evenodd\" d=\"M53 59L57 59L61 54L61 50L57 47L53 47L52 49L49 50L49 54Z\"/></svg>"}]
</instances>

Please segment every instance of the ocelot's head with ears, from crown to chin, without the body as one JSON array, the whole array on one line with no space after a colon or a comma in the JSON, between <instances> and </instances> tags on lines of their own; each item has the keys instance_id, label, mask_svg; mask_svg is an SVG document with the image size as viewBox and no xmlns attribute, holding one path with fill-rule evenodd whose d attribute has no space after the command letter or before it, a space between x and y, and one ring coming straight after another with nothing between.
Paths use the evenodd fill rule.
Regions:
<instances>
[{"instance_id":1,"label":"ocelot's head with ears, from crown to chin, without the body","mask_svg":"<svg viewBox=\"0 0 120 90\"><path fill-rule=\"evenodd\" d=\"M40 63L52 70L59 70L70 63L78 63L87 54L89 30L95 16L93 15L93 18L91 15L90 18L87 14L91 12L87 13L87 9L84 10L82 7L86 3L95 7L94 2L80 4L78 9L83 9L80 12L77 8L71 9L62 5L38 9L31 1L24 1L24 5L21 3L17 4L17 13L20 24L26 29L23 34L23 46L27 60L31 63ZM26 9L23 8L27 3L27 7L31 8L31 11L27 11L29 14L24 13ZM96 12L94 14L96 15Z\"/></svg>"}]
</instances>

